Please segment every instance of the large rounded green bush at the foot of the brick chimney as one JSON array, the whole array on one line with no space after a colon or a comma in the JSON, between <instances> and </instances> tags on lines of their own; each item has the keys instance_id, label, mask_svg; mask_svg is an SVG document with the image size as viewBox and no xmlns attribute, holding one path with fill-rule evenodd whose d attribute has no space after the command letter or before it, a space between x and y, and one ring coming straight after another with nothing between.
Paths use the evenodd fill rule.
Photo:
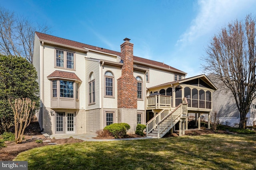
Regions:
<instances>
[{"instance_id":1,"label":"large rounded green bush at the foot of the brick chimney","mask_svg":"<svg viewBox=\"0 0 256 170\"><path fill-rule=\"evenodd\" d=\"M130 129L130 125L127 123L112 123L104 129L108 130L116 139L124 138L126 136L126 131Z\"/></svg>"}]
</instances>

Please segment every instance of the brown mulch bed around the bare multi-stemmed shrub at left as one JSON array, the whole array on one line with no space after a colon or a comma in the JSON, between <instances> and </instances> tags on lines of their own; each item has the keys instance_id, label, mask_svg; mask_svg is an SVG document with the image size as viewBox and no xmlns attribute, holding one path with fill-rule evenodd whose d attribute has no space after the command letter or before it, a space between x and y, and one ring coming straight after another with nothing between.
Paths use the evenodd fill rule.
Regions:
<instances>
[{"instance_id":1,"label":"brown mulch bed around the bare multi-stemmed shrub at left","mask_svg":"<svg viewBox=\"0 0 256 170\"><path fill-rule=\"evenodd\" d=\"M26 128L24 133L24 140L20 144L15 142L6 141L6 147L0 149L0 161L13 160L20 152L26 150L42 147L48 145L47 143L36 143L36 140L48 140L44 135L40 133L39 124L37 121L31 122ZM64 143L76 143L83 142L80 139L67 138L67 139L49 139L51 143L64 144Z\"/></svg>"}]
</instances>

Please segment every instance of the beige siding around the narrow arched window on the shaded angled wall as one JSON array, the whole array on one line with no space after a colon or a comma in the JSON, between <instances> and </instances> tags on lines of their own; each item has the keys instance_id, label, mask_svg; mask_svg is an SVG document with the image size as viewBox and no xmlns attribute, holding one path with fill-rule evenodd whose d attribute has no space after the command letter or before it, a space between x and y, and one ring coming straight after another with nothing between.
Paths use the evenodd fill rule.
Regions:
<instances>
[{"instance_id":1,"label":"beige siding around the narrow arched window on the shaded angled wall","mask_svg":"<svg viewBox=\"0 0 256 170\"><path fill-rule=\"evenodd\" d=\"M86 110L91 110L91 109L96 109L96 108L100 108L100 63L98 61L90 61L90 60L86 60L85 61L85 77L86 77L86 81L85 81L85 104L86 104ZM90 73L94 72L94 76L95 76L95 104L92 105L88 105L89 104L89 77L90 77Z\"/></svg>"}]
</instances>

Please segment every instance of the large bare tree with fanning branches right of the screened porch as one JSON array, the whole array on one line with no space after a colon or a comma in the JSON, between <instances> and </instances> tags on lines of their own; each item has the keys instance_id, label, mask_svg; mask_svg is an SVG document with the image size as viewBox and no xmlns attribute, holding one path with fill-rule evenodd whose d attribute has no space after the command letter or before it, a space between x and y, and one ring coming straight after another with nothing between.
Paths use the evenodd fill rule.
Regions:
<instances>
[{"instance_id":1,"label":"large bare tree with fanning branches right of the screened porch","mask_svg":"<svg viewBox=\"0 0 256 170\"><path fill-rule=\"evenodd\" d=\"M255 18L235 20L215 35L206 49L203 65L214 73L233 94L240 112L239 128L245 128L245 117L256 97L256 30ZM247 90L246 90L247 88Z\"/></svg>"}]
</instances>

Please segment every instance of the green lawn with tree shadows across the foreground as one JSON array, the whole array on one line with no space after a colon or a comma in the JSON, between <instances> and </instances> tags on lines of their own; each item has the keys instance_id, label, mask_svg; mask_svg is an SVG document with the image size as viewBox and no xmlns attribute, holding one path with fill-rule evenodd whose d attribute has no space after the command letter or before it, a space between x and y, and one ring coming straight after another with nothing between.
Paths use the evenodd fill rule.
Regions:
<instances>
[{"instance_id":1,"label":"green lawn with tree shadows across the foreground","mask_svg":"<svg viewBox=\"0 0 256 170\"><path fill-rule=\"evenodd\" d=\"M200 135L83 142L20 153L28 169L256 169L256 135Z\"/></svg>"}]
</instances>

